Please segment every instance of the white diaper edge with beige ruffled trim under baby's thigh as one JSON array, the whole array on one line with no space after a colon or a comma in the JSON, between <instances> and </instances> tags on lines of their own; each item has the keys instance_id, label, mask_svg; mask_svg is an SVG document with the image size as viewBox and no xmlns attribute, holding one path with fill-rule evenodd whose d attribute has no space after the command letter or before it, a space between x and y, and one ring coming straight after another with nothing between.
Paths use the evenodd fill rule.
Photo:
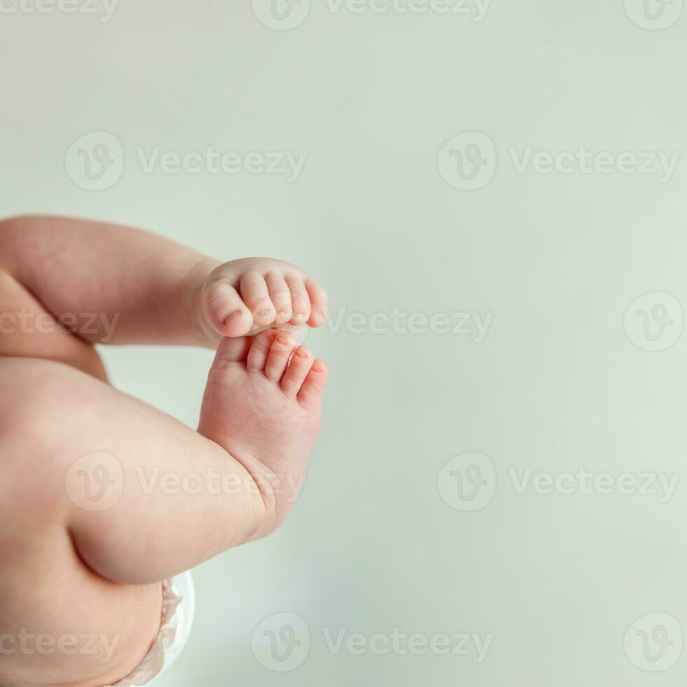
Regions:
<instances>
[{"instance_id":1,"label":"white diaper edge with beige ruffled trim under baby's thigh","mask_svg":"<svg viewBox=\"0 0 687 687\"><path fill-rule=\"evenodd\" d=\"M112 687L139 687L158 683L159 677L172 665L191 634L196 599L193 578L186 572L162 583L163 606L160 631L146 658L123 680Z\"/></svg>"}]
</instances>

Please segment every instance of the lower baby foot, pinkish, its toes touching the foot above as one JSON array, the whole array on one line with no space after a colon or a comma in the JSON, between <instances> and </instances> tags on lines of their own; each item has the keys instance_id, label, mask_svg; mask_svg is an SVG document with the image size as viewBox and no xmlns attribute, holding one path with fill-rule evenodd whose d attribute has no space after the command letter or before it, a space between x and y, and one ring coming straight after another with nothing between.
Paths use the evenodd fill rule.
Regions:
<instances>
[{"instance_id":1,"label":"lower baby foot, pinkish, its toes touching the foot above","mask_svg":"<svg viewBox=\"0 0 687 687\"><path fill-rule=\"evenodd\" d=\"M270 329L254 336L246 360L233 339L217 349L208 375L198 432L250 473L268 507L263 536L276 529L302 487L320 427L327 367L293 334Z\"/></svg>"}]
</instances>

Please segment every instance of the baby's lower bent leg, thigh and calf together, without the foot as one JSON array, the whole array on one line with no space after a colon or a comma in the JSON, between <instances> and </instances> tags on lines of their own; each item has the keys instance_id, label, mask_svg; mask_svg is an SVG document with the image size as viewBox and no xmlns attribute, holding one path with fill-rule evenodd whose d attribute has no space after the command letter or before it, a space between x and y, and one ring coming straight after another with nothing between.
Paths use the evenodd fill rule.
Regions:
<instances>
[{"instance_id":1,"label":"baby's lower bent leg, thigh and calf together, without the foot","mask_svg":"<svg viewBox=\"0 0 687 687\"><path fill-rule=\"evenodd\" d=\"M104 456L118 475L102 475ZM242 488L161 489L158 471ZM214 442L93 376L0 358L0 684L95 687L134 669L156 637L161 581L259 532L265 504L247 477ZM62 650L15 651L25 629ZM101 651L74 660L65 642L82 634ZM104 638L117 638L111 658Z\"/></svg>"}]
</instances>

